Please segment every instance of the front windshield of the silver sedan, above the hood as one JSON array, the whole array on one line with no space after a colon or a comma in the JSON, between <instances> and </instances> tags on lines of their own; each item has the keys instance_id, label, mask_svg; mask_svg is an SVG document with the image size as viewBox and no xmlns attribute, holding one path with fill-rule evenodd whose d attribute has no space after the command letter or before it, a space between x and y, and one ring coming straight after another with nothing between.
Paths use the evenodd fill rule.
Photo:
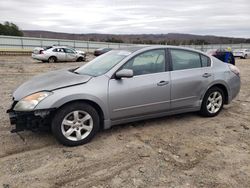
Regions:
<instances>
[{"instance_id":1,"label":"front windshield of the silver sedan, above the hood","mask_svg":"<svg viewBox=\"0 0 250 188\"><path fill-rule=\"evenodd\" d=\"M87 74L90 76L100 76L108 72L117 65L121 60L130 55L131 52L125 50L113 50L107 52L89 63L76 69L74 72L78 74Z\"/></svg>"}]
</instances>

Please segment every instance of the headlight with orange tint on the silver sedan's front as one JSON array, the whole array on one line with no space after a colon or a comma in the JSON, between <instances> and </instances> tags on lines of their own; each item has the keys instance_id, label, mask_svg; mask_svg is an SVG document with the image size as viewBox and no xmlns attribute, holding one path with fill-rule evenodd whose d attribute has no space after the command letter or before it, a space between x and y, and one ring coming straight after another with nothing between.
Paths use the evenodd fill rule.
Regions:
<instances>
[{"instance_id":1,"label":"headlight with orange tint on the silver sedan's front","mask_svg":"<svg viewBox=\"0 0 250 188\"><path fill-rule=\"evenodd\" d=\"M43 99L51 95L52 92L38 92L21 99L14 107L15 111L32 111Z\"/></svg>"}]
</instances>

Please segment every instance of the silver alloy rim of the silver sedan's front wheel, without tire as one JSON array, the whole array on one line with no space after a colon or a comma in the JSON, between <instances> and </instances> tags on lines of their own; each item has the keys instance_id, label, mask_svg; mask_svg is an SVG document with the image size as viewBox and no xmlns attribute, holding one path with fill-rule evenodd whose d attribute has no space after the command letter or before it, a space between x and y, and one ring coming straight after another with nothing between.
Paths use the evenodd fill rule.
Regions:
<instances>
[{"instance_id":1,"label":"silver alloy rim of the silver sedan's front wheel, without tire","mask_svg":"<svg viewBox=\"0 0 250 188\"><path fill-rule=\"evenodd\" d=\"M72 141L83 140L93 129L93 119L85 111L73 111L64 117L61 129L67 139Z\"/></svg>"}]
</instances>

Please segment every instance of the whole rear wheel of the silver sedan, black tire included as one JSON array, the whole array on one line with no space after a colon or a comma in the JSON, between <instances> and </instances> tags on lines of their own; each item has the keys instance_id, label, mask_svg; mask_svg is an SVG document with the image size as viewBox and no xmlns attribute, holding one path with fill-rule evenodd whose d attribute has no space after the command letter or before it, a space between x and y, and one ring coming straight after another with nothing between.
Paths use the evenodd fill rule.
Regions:
<instances>
[{"instance_id":1,"label":"whole rear wheel of the silver sedan, black tire included","mask_svg":"<svg viewBox=\"0 0 250 188\"><path fill-rule=\"evenodd\" d=\"M202 101L200 114L205 117L217 116L225 103L225 95L218 87L210 88Z\"/></svg>"}]
</instances>

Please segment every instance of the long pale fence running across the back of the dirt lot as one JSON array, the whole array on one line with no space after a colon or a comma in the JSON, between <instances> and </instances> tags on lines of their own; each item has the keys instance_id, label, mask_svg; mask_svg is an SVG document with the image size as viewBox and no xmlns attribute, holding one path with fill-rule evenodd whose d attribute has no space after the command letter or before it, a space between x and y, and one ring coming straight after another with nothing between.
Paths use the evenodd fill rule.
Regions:
<instances>
[{"instance_id":1,"label":"long pale fence running across the back of the dirt lot","mask_svg":"<svg viewBox=\"0 0 250 188\"><path fill-rule=\"evenodd\" d=\"M0 35L0 51L26 51L31 52L35 47L47 47L52 45L69 46L86 52L93 52L97 48L122 48L128 46L138 46L138 44L127 43L109 43L95 41L49 39L34 37L14 37ZM209 45L182 45L184 47L194 48L201 51L211 49L244 49L250 48L250 44L209 44Z\"/></svg>"}]
</instances>

